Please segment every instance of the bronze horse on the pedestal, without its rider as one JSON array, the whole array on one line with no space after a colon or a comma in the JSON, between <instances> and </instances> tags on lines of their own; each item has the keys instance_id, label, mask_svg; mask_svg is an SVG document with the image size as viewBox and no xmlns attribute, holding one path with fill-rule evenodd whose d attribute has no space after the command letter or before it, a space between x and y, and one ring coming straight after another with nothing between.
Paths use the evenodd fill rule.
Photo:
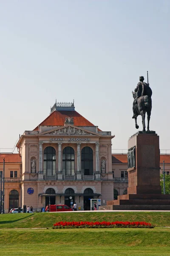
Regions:
<instances>
[{"instance_id":1,"label":"bronze horse on the pedestal, without its rider","mask_svg":"<svg viewBox=\"0 0 170 256\"><path fill-rule=\"evenodd\" d=\"M136 92L133 92L133 98L136 99L137 95ZM135 126L136 129L139 128L139 125L137 124L137 117L139 115L142 116L142 125L143 125L143 131L146 131L146 126L145 126L145 114L147 113L147 131L149 130L149 121L150 121L150 115L151 115L151 110L152 110L152 99L151 97L144 95L144 96L140 96L139 98L137 98L133 112L135 112L134 114L134 119L135 119Z\"/></svg>"}]
</instances>

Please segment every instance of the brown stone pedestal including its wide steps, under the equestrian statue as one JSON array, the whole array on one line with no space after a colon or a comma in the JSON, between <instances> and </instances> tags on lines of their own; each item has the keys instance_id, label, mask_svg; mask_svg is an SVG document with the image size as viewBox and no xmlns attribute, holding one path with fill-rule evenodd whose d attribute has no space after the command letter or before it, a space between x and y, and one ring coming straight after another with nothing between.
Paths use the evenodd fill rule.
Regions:
<instances>
[{"instance_id":1,"label":"brown stone pedestal including its wide steps, under the equestrian statue","mask_svg":"<svg viewBox=\"0 0 170 256\"><path fill-rule=\"evenodd\" d=\"M159 136L156 132L139 131L130 137L127 157L127 195L107 201L106 209L170 210L170 195L161 195Z\"/></svg>"}]
</instances>

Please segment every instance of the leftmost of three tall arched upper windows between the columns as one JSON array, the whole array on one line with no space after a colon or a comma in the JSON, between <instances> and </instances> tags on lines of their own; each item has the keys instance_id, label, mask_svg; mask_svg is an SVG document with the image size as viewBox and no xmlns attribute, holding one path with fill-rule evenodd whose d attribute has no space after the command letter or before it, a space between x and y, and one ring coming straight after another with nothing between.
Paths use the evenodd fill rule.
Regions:
<instances>
[{"instance_id":1,"label":"leftmost of three tall arched upper windows between the columns","mask_svg":"<svg viewBox=\"0 0 170 256\"><path fill-rule=\"evenodd\" d=\"M56 151L53 147L44 149L44 175L56 173Z\"/></svg>"}]
</instances>

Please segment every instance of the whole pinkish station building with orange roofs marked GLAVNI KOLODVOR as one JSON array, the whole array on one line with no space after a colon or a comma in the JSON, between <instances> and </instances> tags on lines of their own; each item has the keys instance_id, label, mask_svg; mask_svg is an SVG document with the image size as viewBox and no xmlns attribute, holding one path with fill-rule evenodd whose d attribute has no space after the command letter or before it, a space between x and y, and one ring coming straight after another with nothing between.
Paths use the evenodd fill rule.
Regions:
<instances>
[{"instance_id":1,"label":"whole pinkish station building with orange roofs marked GLAVNI KOLODVOR","mask_svg":"<svg viewBox=\"0 0 170 256\"><path fill-rule=\"evenodd\" d=\"M55 103L50 115L17 143L18 154L0 154L0 175L5 159L5 201L11 208L77 202L90 210L91 198L101 204L127 193L127 154L111 154L110 131L101 131L77 111L74 103ZM161 155L170 173L170 155Z\"/></svg>"}]
</instances>

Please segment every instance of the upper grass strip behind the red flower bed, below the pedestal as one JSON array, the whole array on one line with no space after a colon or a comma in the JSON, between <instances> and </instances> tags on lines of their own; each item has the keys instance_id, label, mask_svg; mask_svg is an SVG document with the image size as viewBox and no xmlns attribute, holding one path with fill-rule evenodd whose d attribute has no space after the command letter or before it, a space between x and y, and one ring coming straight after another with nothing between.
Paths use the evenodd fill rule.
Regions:
<instances>
[{"instance_id":1,"label":"upper grass strip behind the red flower bed, below the pedestal","mask_svg":"<svg viewBox=\"0 0 170 256\"><path fill-rule=\"evenodd\" d=\"M52 227L57 221L146 221L158 227L170 226L170 212L67 212L1 214L2 228Z\"/></svg>"}]
</instances>

